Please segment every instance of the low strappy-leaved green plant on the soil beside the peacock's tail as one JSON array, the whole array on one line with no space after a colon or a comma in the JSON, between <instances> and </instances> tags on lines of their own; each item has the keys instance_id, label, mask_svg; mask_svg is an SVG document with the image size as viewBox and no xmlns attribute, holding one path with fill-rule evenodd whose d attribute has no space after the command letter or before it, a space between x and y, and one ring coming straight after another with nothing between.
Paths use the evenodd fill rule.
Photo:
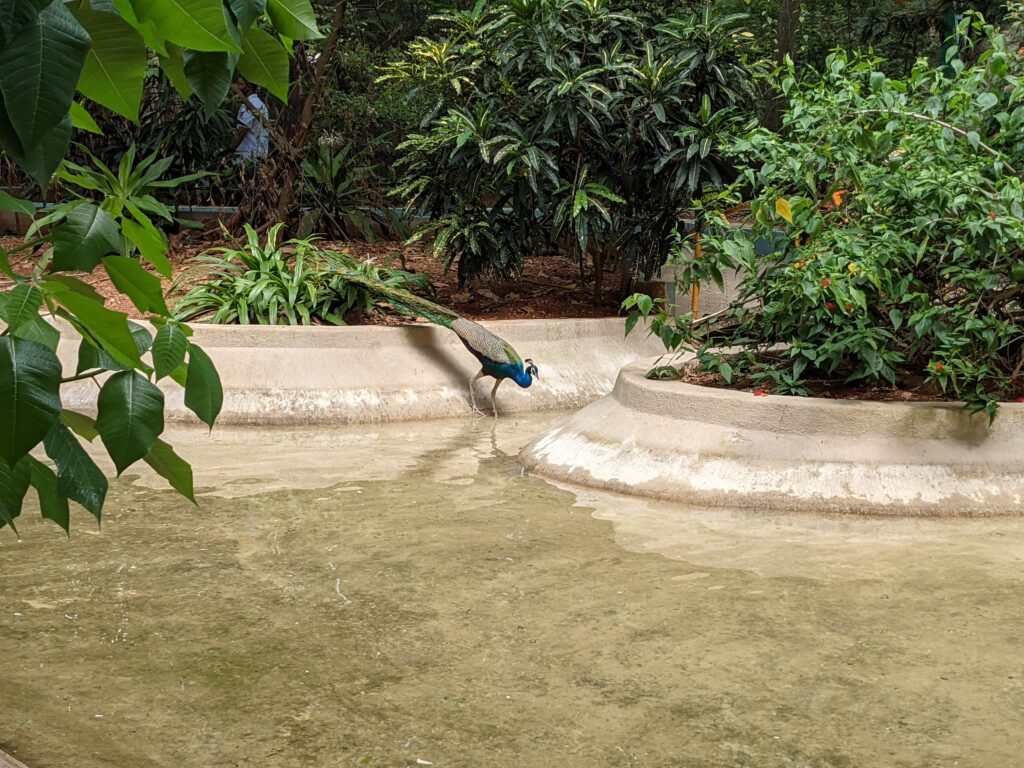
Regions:
<instances>
[{"instance_id":1,"label":"low strappy-leaved green plant on the soil beside the peacock's tail","mask_svg":"<svg viewBox=\"0 0 1024 768\"><path fill-rule=\"evenodd\" d=\"M259 233L246 224L245 243L237 248L213 248L194 259L195 268L176 286L197 284L177 303L178 319L343 326L347 313L370 314L375 305L366 290L345 280L346 271L406 290L430 287L426 274L359 262L344 253L323 250L311 240L281 243L282 226L270 227L261 242Z\"/></svg>"}]
</instances>

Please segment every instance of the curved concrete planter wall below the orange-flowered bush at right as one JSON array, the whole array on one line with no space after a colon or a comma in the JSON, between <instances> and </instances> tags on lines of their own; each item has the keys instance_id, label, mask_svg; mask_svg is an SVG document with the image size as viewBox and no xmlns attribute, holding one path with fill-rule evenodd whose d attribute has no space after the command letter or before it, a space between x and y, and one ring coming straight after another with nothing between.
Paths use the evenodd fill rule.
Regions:
<instances>
[{"instance_id":1,"label":"curved concrete planter wall below the orange-flowered bush at right","mask_svg":"<svg viewBox=\"0 0 1024 768\"><path fill-rule=\"evenodd\" d=\"M880 515L1024 513L1024 406L755 397L620 374L519 455L540 475L687 504Z\"/></svg>"}]
</instances>

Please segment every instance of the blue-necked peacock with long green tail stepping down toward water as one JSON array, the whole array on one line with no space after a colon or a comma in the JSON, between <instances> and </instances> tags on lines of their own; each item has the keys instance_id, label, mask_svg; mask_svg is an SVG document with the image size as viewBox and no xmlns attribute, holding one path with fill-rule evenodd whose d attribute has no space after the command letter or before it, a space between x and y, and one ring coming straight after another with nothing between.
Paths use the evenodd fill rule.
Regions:
<instances>
[{"instance_id":1,"label":"blue-necked peacock with long green tail stepping down toward water","mask_svg":"<svg viewBox=\"0 0 1024 768\"><path fill-rule=\"evenodd\" d=\"M389 286L367 274L345 271L344 278L349 283L361 286L371 295L384 299L407 316L424 317L434 325L455 332L466 349L480 361L480 372L469 380L469 400L472 403L473 413L483 415L476 407L476 393L473 391L476 382L483 377L490 376L495 379L495 386L490 390L490 408L496 419L498 418L498 404L495 402L495 395L503 381L511 379L525 389L534 382L535 378L541 378L534 360L528 357L526 359L520 357L511 344L497 334L490 333L483 326L466 319L440 304L435 304L400 288Z\"/></svg>"}]
</instances>

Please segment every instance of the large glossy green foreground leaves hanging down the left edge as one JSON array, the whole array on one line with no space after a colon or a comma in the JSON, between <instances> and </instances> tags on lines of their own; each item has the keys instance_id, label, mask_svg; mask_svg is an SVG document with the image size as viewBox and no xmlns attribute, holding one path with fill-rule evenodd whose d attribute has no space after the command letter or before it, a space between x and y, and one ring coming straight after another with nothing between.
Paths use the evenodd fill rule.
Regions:
<instances>
[{"instance_id":1,"label":"large glossy green foreground leaves hanging down the left edge","mask_svg":"<svg viewBox=\"0 0 1024 768\"><path fill-rule=\"evenodd\" d=\"M270 25L291 39L318 35L306 0L12 0L0 14L0 148L47 185L68 153L73 123L96 129L76 92L137 121L154 54L183 96L195 91L211 110L226 95L236 66L272 92L287 92L288 53L264 29ZM164 395L156 382L176 381L185 406L212 426L222 404L220 380L191 331L168 316L160 280L133 258L137 250L170 276L166 238L151 219L165 211L147 194L161 186L166 169L154 157L135 164L131 153L117 171L65 166L63 182L88 197L61 206L24 246L40 254L36 268L15 273L0 250L0 272L14 284L0 296L0 525L14 526L30 487L43 516L65 529L70 501L98 519L106 480L80 442L97 436L119 474L142 460L194 498L191 468L160 439ZM34 213L6 193L0 206ZM99 266L148 314L155 334L66 273ZM82 336L73 375L61 369L60 336L41 310ZM95 420L63 407L65 385L81 379L100 385ZM30 454L40 445L52 465Z\"/></svg>"}]
</instances>

